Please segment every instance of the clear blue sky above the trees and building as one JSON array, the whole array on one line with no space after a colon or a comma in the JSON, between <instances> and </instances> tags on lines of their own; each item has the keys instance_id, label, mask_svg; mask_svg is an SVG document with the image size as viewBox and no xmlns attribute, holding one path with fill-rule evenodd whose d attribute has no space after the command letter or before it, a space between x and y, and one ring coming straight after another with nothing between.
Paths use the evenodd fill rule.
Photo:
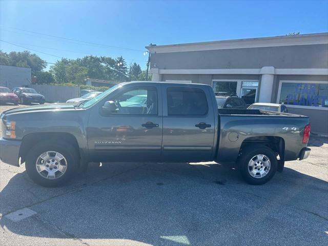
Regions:
<instances>
[{"instance_id":1,"label":"clear blue sky above the trees and building","mask_svg":"<svg viewBox=\"0 0 328 246\"><path fill-rule=\"evenodd\" d=\"M328 32L328 1L0 1L0 49L29 49L48 63L122 55L144 69L150 43L291 32Z\"/></svg>"}]
</instances>

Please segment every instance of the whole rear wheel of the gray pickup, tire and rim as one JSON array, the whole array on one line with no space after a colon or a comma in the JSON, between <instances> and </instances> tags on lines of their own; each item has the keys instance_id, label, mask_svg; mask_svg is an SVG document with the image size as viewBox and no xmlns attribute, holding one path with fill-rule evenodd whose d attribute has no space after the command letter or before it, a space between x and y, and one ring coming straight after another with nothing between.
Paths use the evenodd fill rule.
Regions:
<instances>
[{"instance_id":1,"label":"whole rear wheel of the gray pickup, tire and rim","mask_svg":"<svg viewBox=\"0 0 328 246\"><path fill-rule=\"evenodd\" d=\"M275 175L277 163L273 150L263 145L253 145L241 150L238 170L246 182L263 185Z\"/></svg>"}]
</instances>

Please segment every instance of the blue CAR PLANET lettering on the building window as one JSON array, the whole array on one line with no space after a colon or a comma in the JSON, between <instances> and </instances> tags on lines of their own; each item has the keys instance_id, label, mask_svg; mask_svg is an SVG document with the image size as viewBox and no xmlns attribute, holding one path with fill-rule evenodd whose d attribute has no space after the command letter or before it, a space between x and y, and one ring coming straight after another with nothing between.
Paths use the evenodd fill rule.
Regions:
<instances>
[{"instance_id":1,"label":"blue CAR PLANET lettering on the building window","mask_svg":"<svg viewBox=\"0 0 328 246\"><path fill-rule=\"evenodd\" d=\"M304 86L303 86L304 85ZM299 99L297 100L297 98ZM319 96L316 84L297 84L294 94L287 95L287 104L319 107L326 105L328 96ZM321 104L320 104L321 103Z\"/></svg>"}]
</instances>

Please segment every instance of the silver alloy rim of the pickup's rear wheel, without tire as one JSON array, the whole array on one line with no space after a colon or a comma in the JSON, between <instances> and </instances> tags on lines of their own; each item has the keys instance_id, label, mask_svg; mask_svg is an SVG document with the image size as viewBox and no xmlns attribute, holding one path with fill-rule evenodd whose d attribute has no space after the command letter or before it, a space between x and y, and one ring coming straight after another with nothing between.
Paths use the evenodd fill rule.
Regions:
<instances>
[{"instance_id":1,"label":"silver alloy rim of the pickup's rear wheel, without tire","mask_svg":"<svg viewBox=\"0 0 328 246\"><path fill-rule=\"evenodd\" d=\"M248 163L248 172L254 178L267 176L271 168L271 161L266 155L255 155Z\"/></svg>"}]
</instances>

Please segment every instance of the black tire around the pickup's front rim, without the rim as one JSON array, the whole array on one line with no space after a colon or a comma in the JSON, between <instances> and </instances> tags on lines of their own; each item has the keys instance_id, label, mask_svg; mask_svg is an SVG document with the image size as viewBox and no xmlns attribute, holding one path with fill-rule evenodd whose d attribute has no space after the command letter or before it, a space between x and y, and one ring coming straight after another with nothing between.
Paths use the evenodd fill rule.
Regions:
<instances>
[{"instance_id":1,"label":"black tire around the pickup's front rim, without the rim","mask_svg":"<svg viewBox=\"0 0 328 246\"><path fill-rule=\"evenodd\" d=\"M36 161L38 157L47 151L58 152L67 160L66 171L58 178L45 178L40 175L36 169ZM79 155L73 146L59 141L50 143L40 142L29 151L25 161L25 168L29 177L38 185L44 187L58 187L65 185L65 183L67 183L74 176L78 164Z\"/></svg>"}]
</instances>

